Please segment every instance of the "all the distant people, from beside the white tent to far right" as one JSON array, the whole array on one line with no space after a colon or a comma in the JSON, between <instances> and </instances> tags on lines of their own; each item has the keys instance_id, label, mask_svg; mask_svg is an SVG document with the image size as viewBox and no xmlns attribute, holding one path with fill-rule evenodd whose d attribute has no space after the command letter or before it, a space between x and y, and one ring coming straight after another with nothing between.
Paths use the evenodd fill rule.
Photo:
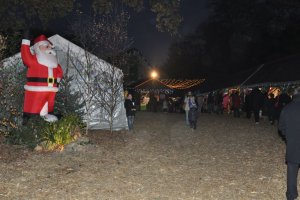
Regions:
<instances>
[{"instance_id":1,"label":"all the distant people, from beside the white tent to far right","mask_svg":"<svg viewBox=\"0 0 300 200\"><path fill-rule=\"evenodd\" d=\"M137 99L132 99L132 94L126 99L125 108L127 115L134 116L139 110ZM138 99L139 100L139 99ZM268 90L261 90L258 87L248 88L243 91L236 89L219 90L206 94L195 95L191 91L183 97L170 97L168 95L155 95L150 93L146 111L150 112L184 112L186 124L196 128L197 116L199 113L232 114L233 117L247 118L254 116L254 122L259 124L262 117L267 118L270 124L278 123L281 110L291 102L291 93L288 90L281 90L279 94ZM192 102L192 103L191 103ZM134 104L134 112L130 111L131 104ZM129 117L129 122L133 117ZM130 129L132 123L130 124Z\"/></svg>"}]
</instances>

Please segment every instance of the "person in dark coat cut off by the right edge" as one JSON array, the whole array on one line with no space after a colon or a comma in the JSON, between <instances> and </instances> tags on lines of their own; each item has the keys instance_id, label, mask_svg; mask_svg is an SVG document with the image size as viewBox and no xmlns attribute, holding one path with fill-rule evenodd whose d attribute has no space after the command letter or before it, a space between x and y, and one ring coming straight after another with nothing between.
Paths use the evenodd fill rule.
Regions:
<instances>
[{"instance_id":1,"label":"person in dark coat cut off by the right edge","mask_svg":"<svg viewBox=\"0 0 300 200\"><path fill-rule=\"evenodd\" d=\"M292 102L281 111L278 128L286 139L286 197L294 200L298 197L297 176L300 165L300 87L295 90Z\"/></svg>"}]
</instances>

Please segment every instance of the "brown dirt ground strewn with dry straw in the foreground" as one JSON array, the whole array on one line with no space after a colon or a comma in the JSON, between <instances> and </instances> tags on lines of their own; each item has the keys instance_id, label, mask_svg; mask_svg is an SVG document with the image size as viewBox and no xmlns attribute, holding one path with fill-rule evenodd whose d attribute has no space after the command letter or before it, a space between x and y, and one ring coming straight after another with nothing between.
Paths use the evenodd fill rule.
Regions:
<instances>
[{"instance_id":1,"label":"brown dirt ground strewn with dry straw in the foreground","mask_svg":"<svg viewBox=\"0 0 300 200\"><path fill-rule=\"evenodd\" d=\"M135 130L63 152L0 145L0 199L280 200L285 144L266 120L139 112Z\"/></svg>"}]
</instances>

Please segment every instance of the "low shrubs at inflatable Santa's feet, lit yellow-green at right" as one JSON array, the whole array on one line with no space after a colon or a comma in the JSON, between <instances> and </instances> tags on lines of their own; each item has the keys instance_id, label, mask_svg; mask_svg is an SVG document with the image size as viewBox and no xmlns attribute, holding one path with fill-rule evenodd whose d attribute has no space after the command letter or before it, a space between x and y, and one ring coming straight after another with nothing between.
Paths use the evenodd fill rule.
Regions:
<instances>
[{"instance_id":1,"label":"low shrubs at inflatable Santa's feet, lit yellow-green at right","mask_svg":"<svg viewBox=\"0 0 300 200\"><path fill-rule=\"evenodd\" d=\"M59 150L77 139L83 123L76 115L66 115L54 123L48 123L39 116L32 116L26 126L20 126L6 135L10 144L26 145L43 150Z\"/></svg>"}]
</instances>

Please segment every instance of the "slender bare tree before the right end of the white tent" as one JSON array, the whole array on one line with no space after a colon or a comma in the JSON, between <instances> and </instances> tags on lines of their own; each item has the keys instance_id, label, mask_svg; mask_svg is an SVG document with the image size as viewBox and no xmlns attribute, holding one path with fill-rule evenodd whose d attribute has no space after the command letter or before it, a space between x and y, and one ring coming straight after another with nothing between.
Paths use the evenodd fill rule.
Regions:
<instances>
[{"instance_id":1,"label":"slender bare tree before the right end of the white tent","mask_svg":"<svg viewBox=\"0 0 300 200\"><path fill-rule=\"evenodd\" d=\"M121 10L120 10L121 9ZM99 102L108 116L110 130L116 118L117 105L124 101L124 96L118 95L123 92L123 74L116 67L126 65L126 54L124 53L132 41L128 37L129 15L122 8L114 7L111 12L103 15L99 21L94 23L92 36L99 41L99 55L114 66L103 71L98 83L105 83L107 88L98 84Z\"/></svg>"}]
</instances>

